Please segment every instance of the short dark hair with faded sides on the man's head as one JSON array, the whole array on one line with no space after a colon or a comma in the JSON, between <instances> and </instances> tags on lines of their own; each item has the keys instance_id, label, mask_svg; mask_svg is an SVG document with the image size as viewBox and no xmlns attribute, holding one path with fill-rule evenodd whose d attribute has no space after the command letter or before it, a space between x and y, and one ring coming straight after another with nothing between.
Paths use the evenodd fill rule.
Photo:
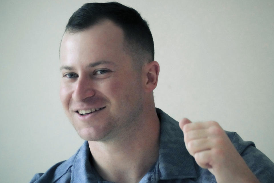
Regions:
<instances>
[{"instance_id":1,"label":"short dark hair with faded sides on the man's head","mask_svg":"<svg viewBox=\"0 0 274 183\"><path fill-rule=\"evenodd\" d=\"M113 21L123 30L125 50L137 66L154 60L154 43L148 23L135 9L117 2L84 4L72 14L65 32L84 31L104 19Z\"/></svg>"}]
</instances>

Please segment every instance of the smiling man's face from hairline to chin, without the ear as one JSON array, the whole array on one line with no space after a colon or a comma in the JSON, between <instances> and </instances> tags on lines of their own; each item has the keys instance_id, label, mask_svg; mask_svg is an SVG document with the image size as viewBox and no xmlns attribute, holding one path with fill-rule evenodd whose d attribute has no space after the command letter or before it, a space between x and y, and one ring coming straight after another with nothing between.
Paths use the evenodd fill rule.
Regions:
<instances>
[{"instance_id":1,"label":"smiling man's face from hairline to chin, without the ear","mask_svg":"<svg viewBox=\"0 0 274 183\"><path fill-rule=\"evenodd\" d=\"M134 128L140 117L144 94L141 73L133 69L123 40L122 29L108 20L63 36L60 98L85 140L122 135Z\"/></svg>"}]
</instances>

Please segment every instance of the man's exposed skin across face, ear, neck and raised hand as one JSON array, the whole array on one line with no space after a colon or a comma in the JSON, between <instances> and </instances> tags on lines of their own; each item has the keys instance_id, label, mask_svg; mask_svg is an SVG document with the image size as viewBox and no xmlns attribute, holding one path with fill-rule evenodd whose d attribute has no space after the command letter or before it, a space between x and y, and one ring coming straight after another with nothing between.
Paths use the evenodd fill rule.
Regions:
<instances>
[{"instance_id":1,"label":"man's exposed skin across face, ear, neck and raised hand","mask_svg":"<svg viewBox=\"0 0 274 183\"><path fill-rule=\"evenodd\" d=\"M158 159L160 124L153 89L159 64L141 71L124 49L123 31L104 20L65 33L60 47L63 108L77 133L88 140L92 164L105 180L139 182ZM78 110L101 109L86 116ZM259 182L216 122L180 122L189 153L218 183Z\"/></svg>"}]
</instances>

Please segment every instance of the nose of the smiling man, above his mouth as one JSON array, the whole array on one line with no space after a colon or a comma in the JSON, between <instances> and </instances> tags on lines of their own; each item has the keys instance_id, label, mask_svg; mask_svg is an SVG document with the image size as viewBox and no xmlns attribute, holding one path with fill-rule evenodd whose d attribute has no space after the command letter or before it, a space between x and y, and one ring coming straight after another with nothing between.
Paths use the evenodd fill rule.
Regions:
<instances>
[{"instance_id":1,"label":"nose of the smiling man, above his mouth","mask_svg":"<svg viewBox=\"0 0 274 183\"><path fill-rule=\"evenodd\" d=\"M93 88L93 83L90 78L80 78L78 77L74 91L72 93L72 98L75 102L82 102L86 98L92 97L95 95Z\"/></svg>"}]
</instances>

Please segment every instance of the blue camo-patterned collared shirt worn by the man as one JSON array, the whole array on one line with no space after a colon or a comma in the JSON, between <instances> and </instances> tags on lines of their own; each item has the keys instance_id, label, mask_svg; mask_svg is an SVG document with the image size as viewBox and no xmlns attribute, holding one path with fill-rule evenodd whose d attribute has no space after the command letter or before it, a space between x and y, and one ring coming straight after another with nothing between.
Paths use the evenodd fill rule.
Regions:
<instances>
[{"instance_id":1,"label":"blue camo-patterned collared shirt worn by the man","mask_svg":"<svg viewBox=\"0 0 274 183\"><path fill-rule=\"evenodd\" d=\"M140 183L215 183L215 177L200 168L186 150L178 122L162 110L156 108L156 111L161 122L159 158ZM243 141L235 132L227 135L261 183L273 183L273 162L253 142ZM44 174L35 174L30 183L110 183L102 180L90 158L88 142L84 142L71 158L55 164Z\"/></svg>"}]
</instances>

